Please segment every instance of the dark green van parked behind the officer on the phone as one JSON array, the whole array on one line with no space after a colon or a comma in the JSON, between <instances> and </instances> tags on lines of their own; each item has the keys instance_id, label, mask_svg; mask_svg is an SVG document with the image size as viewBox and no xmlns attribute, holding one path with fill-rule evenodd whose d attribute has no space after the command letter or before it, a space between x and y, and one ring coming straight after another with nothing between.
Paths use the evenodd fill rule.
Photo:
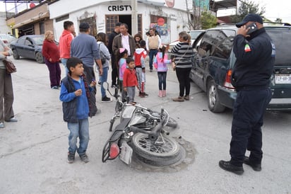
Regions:
<instances>
[{"instance_id":1,"label":"dark green van parked behind the officer on the phone","mask_svg":"<svg viewBox=\"0 0 291 194\"><path fill-rule=\"evenodd\" d=\"M272 100L268 110L291 110L291 26L265 25L276 47L275 66L271 76ZM236 60L232 52L235 25L210 28L196 38L190 78L206 91L208 108L220 113L232 108L237 93L230 83Z\"/></svg>"}]
</instances>

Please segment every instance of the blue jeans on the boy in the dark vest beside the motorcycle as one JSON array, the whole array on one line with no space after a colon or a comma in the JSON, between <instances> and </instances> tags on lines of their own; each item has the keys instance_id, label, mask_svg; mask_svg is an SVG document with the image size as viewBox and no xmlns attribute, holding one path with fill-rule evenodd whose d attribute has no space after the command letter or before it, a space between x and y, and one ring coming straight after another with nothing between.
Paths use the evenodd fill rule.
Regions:
<instances>
[{"instance_id":1,"label":"blue jeans on the boy in the dark vest beside the motorcycle","mask_svg":"<svg viewBox=\"0 0 291 194\"><path fill-rule=\"evenodd\" d=\"M89 143L89 122L88 118L78 120L78 122L68 122L69 152L78 152L79 155L85 154ZM77 147L77 138L79 137L80 146Z\"/></svg>"}]
</instances>

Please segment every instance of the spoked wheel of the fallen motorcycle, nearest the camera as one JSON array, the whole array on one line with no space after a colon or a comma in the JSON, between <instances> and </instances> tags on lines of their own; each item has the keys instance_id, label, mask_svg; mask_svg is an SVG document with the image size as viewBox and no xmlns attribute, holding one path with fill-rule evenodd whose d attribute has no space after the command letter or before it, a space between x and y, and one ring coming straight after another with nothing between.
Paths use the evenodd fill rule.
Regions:
<instances>
[{"instance_id":1,"label":"spoked wheel of the fallen motorcycle, nearest the camera","mask_svg":"<svg viewBox=\"0 0 291 194\"><path fill-rule=\"evenodd\" d=\"M136 133L131 147L138 159L154 166L168 166L182 159L182 148L170 137L162 136L165 142L154 143L148 135Z\"/></svg>"}]
</instances>

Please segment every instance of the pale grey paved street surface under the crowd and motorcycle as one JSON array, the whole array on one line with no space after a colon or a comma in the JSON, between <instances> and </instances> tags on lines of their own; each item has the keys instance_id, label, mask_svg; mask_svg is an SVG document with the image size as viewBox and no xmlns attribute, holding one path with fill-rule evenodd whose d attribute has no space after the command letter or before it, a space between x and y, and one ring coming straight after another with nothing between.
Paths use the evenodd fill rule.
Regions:
<instances>
[{"instance_id":1,"label":"pale grey paved street surface under the crowd and motorcycle","mask_svg":"<svg viewBox=\"0 0 291 194\"><path fill-rule=\"evenodd\" d=\"M190 101L173 102L179 91L172 69L167 97L159 98L158 76L147 72L149 97L136 96L136 101L153 110L168 110L179 124L173 135L194 145L194 162L181 169L156 170L127 166L119 159L103 164L102 148L110 135L115 103L101 103L98 87L100 113L89 119L90 162L83 164L76 155L68 164L69 130L62 119L59 90L49 87L47 67L26 59L14 62L18 72L13 74L13 108L18 122L6 122L0 129L0 193L291 193L290 112L266 113L263 169L256 172L244 165L244 174L237 176L218 166L220 159L230 159L232 111L211 113L205 93L194 83Z\"/></svg>"}]
</instances>

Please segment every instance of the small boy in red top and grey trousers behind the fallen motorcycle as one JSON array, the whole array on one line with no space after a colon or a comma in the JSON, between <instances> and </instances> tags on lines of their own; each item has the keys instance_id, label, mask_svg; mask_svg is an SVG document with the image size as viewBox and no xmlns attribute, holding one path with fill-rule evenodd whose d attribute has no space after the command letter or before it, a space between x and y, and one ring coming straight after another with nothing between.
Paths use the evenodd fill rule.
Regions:
<instances>
[{"instance_id":1,"label":"small boy in red top and grey trousers behind the fallen motorcycle","mask_svg":"<svg viewBox=\"0 0 291 194\"><path fill-rule=\"evenodd\" d=\"M124 71L123 87L124 91L129 96L129 103L134 103L136 87L138 88L138 80L136 79L136 70L134 69L134 60L131 57L126 58L128 68Z\"/></svg>"}]
</instances>

